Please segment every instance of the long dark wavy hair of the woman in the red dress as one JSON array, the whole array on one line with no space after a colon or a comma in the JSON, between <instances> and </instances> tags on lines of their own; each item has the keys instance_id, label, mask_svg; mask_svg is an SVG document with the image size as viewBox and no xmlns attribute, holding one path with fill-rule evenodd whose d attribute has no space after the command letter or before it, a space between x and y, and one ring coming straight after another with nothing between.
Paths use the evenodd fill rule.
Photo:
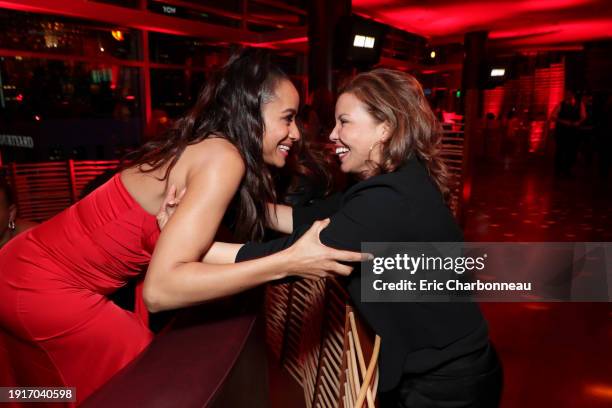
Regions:
<instances>
[{"instance_id":1,"label":"long dark wavy hair of the woman in the red dress","mask_svg":"<svg viewBox=\"0 0 612 408\"><path fill-rule=\"evenodd\" d=\"M246 48L234 54L200 92L194 107L168 131L128 155L129 166L145 173L167 165L170 171L189 145L221 137L238 148L246 174L234 200L235 235L239 240L263 236L267 202L275 199L270 171L263 160L262 107L274 98L277 84L287 75L271 62L270 54ZM145 166L146 168L143 168Z\"/></svg>"}]
</instances>

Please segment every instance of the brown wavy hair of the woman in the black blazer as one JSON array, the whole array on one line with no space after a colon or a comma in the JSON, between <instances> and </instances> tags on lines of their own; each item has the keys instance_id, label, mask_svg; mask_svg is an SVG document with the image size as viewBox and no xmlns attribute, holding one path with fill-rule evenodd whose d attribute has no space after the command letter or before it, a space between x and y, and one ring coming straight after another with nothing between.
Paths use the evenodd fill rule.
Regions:
<instances>
[{"instance_id":1,"label":"brown wavy hair of the woman in the black blazer","mask_svg":"<svg viewBox=\"0 0 612 408\"><path fill-rule=\"evenodd\" d=\"M391 128L382 160L370 162L367 176L393 172L414 156L446 198L450 176L440 155L442 128L419 81L401 71L377 68L353 77L340 89L343 93L355 95L374 119Z\"/></svg>"}]
</instances>

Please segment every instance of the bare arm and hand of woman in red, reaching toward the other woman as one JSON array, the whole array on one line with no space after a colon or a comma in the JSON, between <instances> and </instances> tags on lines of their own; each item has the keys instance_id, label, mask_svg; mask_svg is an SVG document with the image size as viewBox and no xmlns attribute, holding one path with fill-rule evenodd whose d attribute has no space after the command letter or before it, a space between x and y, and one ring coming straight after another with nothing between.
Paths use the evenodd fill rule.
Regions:
<instances>
[{"instance_id":1,"label":"bare arm and hand of woman in red, reaching toward the other woman","mask_svg":"<svg viewBox=\"0 0 612 408\"><path fill-rule=\"evenodd\" d=\"M212 248L213 238L244 173L237 151L226 147L210 153L208 161L189 172L185 196L157 242L143 292L150 311L198 304L290 275L348 275L352 268L338 261L363 259L359 253L323 246L318 234L328 222L318 222L301 242L276 254L237 264L200 262L211 249L209 261L218 253ZM235 257L238 249L239 245L232 247L221 261Z\"/></svg>"}]
</instances>

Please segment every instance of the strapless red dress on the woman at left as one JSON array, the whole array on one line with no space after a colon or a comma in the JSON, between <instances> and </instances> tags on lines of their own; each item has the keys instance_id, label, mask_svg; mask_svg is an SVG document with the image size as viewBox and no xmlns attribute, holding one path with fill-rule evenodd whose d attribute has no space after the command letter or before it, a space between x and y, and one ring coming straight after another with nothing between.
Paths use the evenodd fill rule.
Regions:
<instances>
[{"instance_id":1,"label":"strapless red dress on the woman at left","mask_svg":"<svg viewBox=\"0 0 612 408\"><path fill-rule=\"evenodd\" d=\"M0 386L71 386L81 402L146 348L143 320L106 295L143 274L158 236L117 173L5 245Z\"/></svg>"}]
</instances>

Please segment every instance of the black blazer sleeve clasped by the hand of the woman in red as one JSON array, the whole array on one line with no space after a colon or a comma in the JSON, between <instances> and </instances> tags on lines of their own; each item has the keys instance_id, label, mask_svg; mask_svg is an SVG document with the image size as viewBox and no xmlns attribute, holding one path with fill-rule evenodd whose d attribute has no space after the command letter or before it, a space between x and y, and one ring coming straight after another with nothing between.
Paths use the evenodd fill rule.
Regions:
<instances>
[{"instance_id":1,"label":"black blazer sleeve clasped by the hand of the woman in red","mask_svg":"<svg viewBox=\"0 0 612 408\"><path fill-rule=\"evenodd\" d=\"M337 249L360 251L367 241L393 241L395 217L401 198L388 187L372 187L355 193L342 208L331 216L331 222L321 232L321 242ZM290 247L310 227L301 225L291 235L268 242L245 244L236 262L260 258Z\"/></svg>"}]
</instances>

